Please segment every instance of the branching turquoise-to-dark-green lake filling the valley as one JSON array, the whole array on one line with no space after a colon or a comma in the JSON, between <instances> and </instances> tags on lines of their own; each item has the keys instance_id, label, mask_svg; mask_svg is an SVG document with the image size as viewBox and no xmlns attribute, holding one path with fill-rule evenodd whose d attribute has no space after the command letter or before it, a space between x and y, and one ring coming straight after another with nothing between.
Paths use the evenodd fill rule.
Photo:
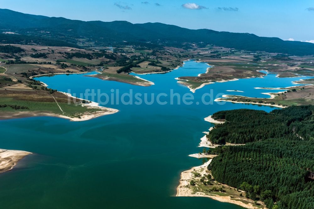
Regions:
<instances>
[{"instance_id":1,"label":"branching turquoise-to-dark-green lake filling the valley","mask_svg":"<svg viewBox=\"0 0 314 209\"><path fill-rule=\"evenodd\" d=\"M101 93L190 93L174 78L196 76L205 63L187 61L184 67L166 74L140 75L155 83L150 87L77 75L40 77L50 88L79 95L86 88ZM204 197L174 197L180 173L202 164L188 157L203 131L212 124L203 120L219 110L249 108L271 111L261 105L201 101L204 93L265 97L272 92L254 87L286 87L300 78L240 79L214 83L196 91L192 105L106 104L120 110L90 121L70 122L53 117L0 121L1 148L34 153L11 171L0 174L0 204L3 208L241 208ZM228 92L226 90L242 90ZM274 91L276 92L276 90ZM92 98L89 98L92 99ZM197 105L196 102L200 104Z\"/></svg>"}]
</instances>

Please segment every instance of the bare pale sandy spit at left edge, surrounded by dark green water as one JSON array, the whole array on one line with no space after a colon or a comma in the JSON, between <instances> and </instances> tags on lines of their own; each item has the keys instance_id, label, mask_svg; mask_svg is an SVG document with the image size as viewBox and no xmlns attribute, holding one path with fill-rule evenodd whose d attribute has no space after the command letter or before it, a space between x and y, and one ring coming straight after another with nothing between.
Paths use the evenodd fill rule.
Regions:
<instances>
[{"instance_id":1,"label":"bare pale sandy spit at left edge, surrounded by dark green water","mask_svg":"<svg viewBox=\"0 0 314 209\"><path fill-rule=\"evenodd\" d=\"M20 150L0 149L0 173L9 171L26 155L32 154Z\"/></svg>"}]
</instances>

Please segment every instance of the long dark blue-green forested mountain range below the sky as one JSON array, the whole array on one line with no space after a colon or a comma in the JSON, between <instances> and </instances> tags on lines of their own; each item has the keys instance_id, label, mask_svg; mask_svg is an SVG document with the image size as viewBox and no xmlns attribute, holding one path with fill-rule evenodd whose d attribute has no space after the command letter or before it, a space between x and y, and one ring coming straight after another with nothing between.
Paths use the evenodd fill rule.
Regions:
<instances>
[{"instance_id":1,"label":"long dark blue-green forested mountain range below the sky","mask_svg":"<svg viewBox=\"0 0 314 209\"><path fill-rule=\"evenodd\" d=\"M218 32L209 29L186 29L162 23L132 24L127 21L80 21L65 18L46 17L0 9L0 31L16 32L20 35L1 34L0 43L8 43L24 37L24 43L30 43L30 37L40 44L50 40L51 44L63 46L116 46L125 41L133 45L151 45L154 47L198 46L213 44L227 48L248 51L267 51L289 55L314 55L314 44L300 41L284 41L279 38L259 37L249 33ZM27 35L27 36L25 36ZM8 38L11 36L13 38ZM41 38L41 40L38 39Z\"/></svg>"}]
</instances>

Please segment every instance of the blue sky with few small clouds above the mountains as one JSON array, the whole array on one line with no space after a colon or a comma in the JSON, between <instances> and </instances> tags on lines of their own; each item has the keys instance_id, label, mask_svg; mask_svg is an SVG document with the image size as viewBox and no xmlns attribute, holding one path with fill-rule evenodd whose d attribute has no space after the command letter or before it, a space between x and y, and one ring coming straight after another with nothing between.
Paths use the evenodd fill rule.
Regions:
<instances>
[{"instance_id":1,"label":"blue sky with few small clouds above the mountains","mask_svg":"<svg viewBox=\"0 0 314 209\"><path fill-rule=\"evenodd\" d=\"M0 8L84 21L161 22L314 42L310 0L0 0Z\"/></svg>"}]
</instances>

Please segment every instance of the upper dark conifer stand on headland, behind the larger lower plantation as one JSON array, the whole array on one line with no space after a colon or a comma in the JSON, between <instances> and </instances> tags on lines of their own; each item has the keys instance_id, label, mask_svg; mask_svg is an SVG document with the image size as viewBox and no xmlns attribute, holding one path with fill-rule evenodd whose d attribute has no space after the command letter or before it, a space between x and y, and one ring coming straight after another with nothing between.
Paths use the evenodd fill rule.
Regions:
<instances>
[{"instance_id":1,"label":"upper dark conifer stand on headland, behind the larger lower plantation","mask_svg":"<svg viewBox=\"0 0 314 209\"><path fill-rule=\"evenodd\" d=\"M314 106L298 106L273 110L269 114L257 110L219 111L213 115L216 119L225 119L226 123L216 125L208 138L214 144L255 142L267 138L277 138L295 131L305 139L313 137L313 127L309 121ZM241 122L241 123L240 123Z\"/></svg>"}]
</instances>

